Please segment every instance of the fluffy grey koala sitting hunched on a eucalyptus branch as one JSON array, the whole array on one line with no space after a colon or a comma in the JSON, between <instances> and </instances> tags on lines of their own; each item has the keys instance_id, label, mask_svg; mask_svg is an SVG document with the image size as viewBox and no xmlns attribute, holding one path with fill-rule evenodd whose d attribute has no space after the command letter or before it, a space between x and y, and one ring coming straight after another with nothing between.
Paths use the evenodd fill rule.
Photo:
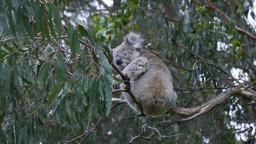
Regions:
<instances>
[{"instance_id":1,"label":"fluffy grey koala sitting hunched on a eucalyptus branch","mask_svg":"<svg viewBox=\"0 0 256 144\"><path fill-rule=\"evenodd\" d=\"M131 90L142 104L144 114L157 117L175 105L177 95L169 70L162 60L142 49L143 41L140 34L130 32L120 46L111 49L111 54L113 62L130 78ZM113 80L112 87L124 89L125 85ZM127 92L122 94L130 107L142 113Z\"/></svg>"}]
</instances>

